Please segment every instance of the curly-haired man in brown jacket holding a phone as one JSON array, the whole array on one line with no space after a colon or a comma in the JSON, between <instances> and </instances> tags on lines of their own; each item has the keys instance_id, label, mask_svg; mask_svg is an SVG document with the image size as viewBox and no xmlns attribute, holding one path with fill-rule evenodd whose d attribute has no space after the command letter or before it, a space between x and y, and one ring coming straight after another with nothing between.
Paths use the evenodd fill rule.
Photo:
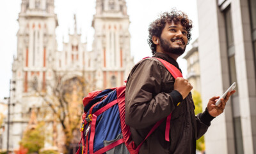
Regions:
<instances>
[{"instance_id":1,"label":"curly-haired man in brown jacket holding a phone","mask_svg":"<svg viewBox=\"0 0 256 154\"><path fill-rule=\"evenodd\" d=\"M179 68L177 58L191 39L192 22L182 11L165 12L150 24L148 44L153 57ZM196 139L205 134L211 120L223 113L226 102L209 99L204 113L195 116L192 85L184 78L176 80L154 58L143 59L133 67L125 92L125 123L131 127L132 140L138 146L154 124L172 113L170 141L165 141L166 120L146 139L140 153L195 153Z\"/></svg>"}]
</instances>

